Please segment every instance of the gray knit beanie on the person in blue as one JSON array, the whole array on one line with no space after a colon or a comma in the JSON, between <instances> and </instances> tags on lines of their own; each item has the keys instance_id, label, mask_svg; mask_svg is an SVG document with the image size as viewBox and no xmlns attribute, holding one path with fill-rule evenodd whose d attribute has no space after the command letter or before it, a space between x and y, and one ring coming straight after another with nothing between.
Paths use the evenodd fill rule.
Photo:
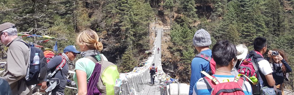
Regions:
<instances>
[{"instance_id":1,"label":"gray knit beanie on the person in blue","mask_svg":"<svg viewBox=\"0 0 294 95\"><path fill-rule=\"evenodd\" d=\"M206 47L210 44L211 40L209 33L204 29L197 30L193 37L193 45L195 47Z\"/></svg>"}]
</instances>

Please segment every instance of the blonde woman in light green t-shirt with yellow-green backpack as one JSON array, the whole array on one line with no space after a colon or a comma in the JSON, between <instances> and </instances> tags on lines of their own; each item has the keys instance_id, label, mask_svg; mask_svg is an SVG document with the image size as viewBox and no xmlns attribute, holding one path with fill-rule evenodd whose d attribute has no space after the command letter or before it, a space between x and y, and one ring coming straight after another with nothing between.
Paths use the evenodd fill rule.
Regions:
<instances>
[{"instance_id":1,"label":"blonde woman in light green t-shirt with yellow-green backpack","mask_svg":"<svg viewBox=\"0 0 294 95\"><path fill-rule=\"evenodd\" d=\"M119 88L114 87L116 79L119 79L117 66L100 54L103 45L97 33L91 29L84 30L77 35L76 43L83 57L76 61L73 76L78 95L118 95Z\"/></svg>"}]
</instances>

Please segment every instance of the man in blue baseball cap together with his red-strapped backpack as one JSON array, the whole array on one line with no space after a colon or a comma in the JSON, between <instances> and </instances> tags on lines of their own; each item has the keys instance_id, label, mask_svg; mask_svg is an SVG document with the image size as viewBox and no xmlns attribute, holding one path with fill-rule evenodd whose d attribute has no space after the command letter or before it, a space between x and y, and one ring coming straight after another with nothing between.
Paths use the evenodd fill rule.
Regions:
<instances>
[{"instance_id":1,"label":"man in blue baseball cap together with his red-strapped backpack","mask_svg":"<svg viewBox=\"0 0 294 95\"><path fill-rule=\"evenodd\" d=\"M64 89L66 86L67 76L69 73L69 62L74 61L77 54L80 54L81 52L76 50L76 47L74 45L66 46L63 50L63 53L61 55L56 55L52 59L48 59L48 72L51 73L46 79L48 80L56 80L59 81L59 84L55 86L55 88L51 91L52 95L64 95ZM55 55L52 51L45 51L44 53L45 57L46 55ZM58 67L62 67L63 69L59 69ZM56 72L57 71L57 72ZM47 85L43 83L42 87L44 88ZM41 88L41 92L44 92L45 89ZM48 93L48 92L47 92Z\"/></svg>"}]
</instances>

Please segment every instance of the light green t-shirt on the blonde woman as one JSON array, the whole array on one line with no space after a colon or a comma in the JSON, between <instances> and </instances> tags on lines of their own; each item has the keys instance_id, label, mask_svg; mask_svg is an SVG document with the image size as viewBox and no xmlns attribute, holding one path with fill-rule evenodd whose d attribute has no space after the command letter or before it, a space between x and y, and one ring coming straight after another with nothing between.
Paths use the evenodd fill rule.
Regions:
<instances>
[{"instance_id":1,"label":"light green t-shirt on the blonde woman","mask_svg":"<svg viewBox=\"0 0 294 95\"><path fill-rule=\"evenodd\" d=\"M96 55L95 57L98 59L98 61L101 60L100 55ZM76 61L76 68L74 70L75 71L76 70L82 70L82 71L86 72L86 74L87 74L87 82L89 82L89 79L90 79L91 74L92 74L92 72L93 72L93 70L95 68L95 65L96 65L96 63L94 63L92 60L84 57L84 58L78 59ZM73 78L74 78L74 82L76 82L76 86L78 88L78 79L76 77L76 73L74 73Z\"/></svg>"}]
</instances>

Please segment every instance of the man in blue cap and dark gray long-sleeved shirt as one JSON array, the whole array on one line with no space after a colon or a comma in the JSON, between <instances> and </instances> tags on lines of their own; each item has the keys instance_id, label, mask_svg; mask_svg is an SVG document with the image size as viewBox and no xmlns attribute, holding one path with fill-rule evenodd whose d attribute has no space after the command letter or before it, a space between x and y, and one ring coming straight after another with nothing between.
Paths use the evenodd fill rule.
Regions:
<instances>
[{"instance_id":1,"label":"man in blue cap and dark gray long-sleeved shirt","mask_svg":"<svg viewBox=\"0 0 294 95\"><path fill-rule=\"evenodd\" d=\"M61 64L62 60L65 59L66 63L63 67L63 69L57 71L55 75L53 75L51 78L57 78L59 79L59 84L52 90L52 95L64 95L64 89L66 86L67 76L69 73L69 63L70 61L74 61L77 54L80 54L81 52L76 50L76 47L74 45L66 46L63 50L63 53L59 56L53 57L48 62L48 74L54 72L57 66ZM51 79L50 78L50 79ZM49 79L49 80L50 80ZM44 84L42 84L44 86ZM45 84L46 87L46 84ZM42 89L41 91L44 91L46 88Z\"/></svg>"}]
</instances>

